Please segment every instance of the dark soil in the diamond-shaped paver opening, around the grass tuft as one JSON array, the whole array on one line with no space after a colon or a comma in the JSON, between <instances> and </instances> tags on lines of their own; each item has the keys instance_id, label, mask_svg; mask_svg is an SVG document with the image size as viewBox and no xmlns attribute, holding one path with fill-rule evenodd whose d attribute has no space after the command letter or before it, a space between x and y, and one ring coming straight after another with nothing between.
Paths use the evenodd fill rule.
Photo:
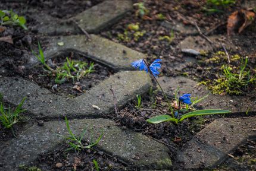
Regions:
<instances>
[{"instance_id":1,"label":"dark soil in the diamond-shaped paver opening, around the grass tuft","mask_svg":"<svg viewBox=\"0 0 256 171\"><path fill-rule=\"evenodd\" d=\"M66 62L66 58L74 61L83 61L87 64L92 63L86 56L77 55L76 53L70 52L69 54L60 55L53 59L48 60L48 64L51 65L52 68L56 69L57 66L63 66L64 62ZM63 84L56 84L55 77L51 72L45 71L43 69L43 65L38 65L29 71L27 71L23 77L35 82L36 84L48 88L53 93L56 93L61 96L79 96L80 94L86 93L87 90L92 88L93 86L99 84L102 80L109 77L114 73L110 68L102 66L101 64L93 62L93 72L85 75L80 80L67 80Z\"/></svg>"}]
</instances>

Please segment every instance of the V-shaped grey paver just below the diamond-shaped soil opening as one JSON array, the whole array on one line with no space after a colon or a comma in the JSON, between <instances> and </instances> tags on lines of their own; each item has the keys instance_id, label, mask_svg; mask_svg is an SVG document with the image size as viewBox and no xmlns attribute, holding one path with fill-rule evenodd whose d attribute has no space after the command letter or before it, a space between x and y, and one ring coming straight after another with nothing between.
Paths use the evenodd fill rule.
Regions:
<instances>
[{"instance_id":1,"label":"V-shaped grey paver just below the diamond-shaped soil opening","mask_svg":"<svg viewBox=\"0 0 256 171\"><path fill-rule=\"evenodd\" d=\"M67 115L72 118L101 117L114 111L114 90L118 107L126 105L136 94L143 94L152 85L151 78L141 71L120 71L102 81L85 94L74 99L64 99L46 88L23 78L0 78L0 92L4 100L13 105L18 105L23 97L28 97L24 102L24 109L32 118L59 118ZM95 109L96 105L100 110Z\"/></svg>"}]
</instances>

